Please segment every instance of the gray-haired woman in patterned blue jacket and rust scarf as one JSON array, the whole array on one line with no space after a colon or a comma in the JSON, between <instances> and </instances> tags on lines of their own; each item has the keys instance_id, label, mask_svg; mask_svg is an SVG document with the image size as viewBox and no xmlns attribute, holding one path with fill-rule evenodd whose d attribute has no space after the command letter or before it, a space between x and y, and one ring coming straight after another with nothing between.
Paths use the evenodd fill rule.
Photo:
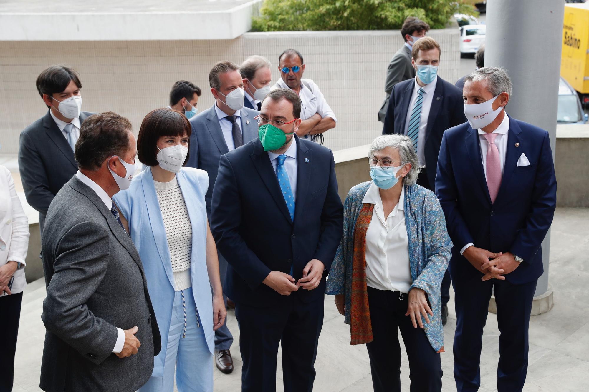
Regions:
<instances>
[{"instance_id":1,"label":"gray-haired woman in patterned blue jacket and rust scarf","mask_svg":"<svg viewBox=\"0 0 589 392\"><path fill-rule=\"evenodd\" d=\"M401 391L401 330L412 391L440 391L444 351L440 285L452 241L434 192L416 185L411 138L382 135L369 152L372 181L353 187L327 294L366 343L375 391Z\"/></svg>"}]
</instances>

